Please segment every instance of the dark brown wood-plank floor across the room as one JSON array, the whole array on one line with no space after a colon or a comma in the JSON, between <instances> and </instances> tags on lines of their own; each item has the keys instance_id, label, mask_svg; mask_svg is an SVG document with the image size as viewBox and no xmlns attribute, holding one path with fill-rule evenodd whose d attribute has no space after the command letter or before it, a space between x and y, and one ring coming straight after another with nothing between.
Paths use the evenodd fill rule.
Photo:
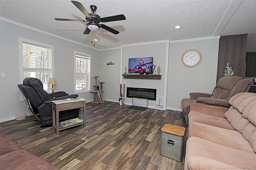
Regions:
<instances>
[{"instance_id":1,"label":"dark brown wood-plank floor across the room","mask_svg":"<svg viewBox=\"0 0 256 170\"><path fill-rule=\"evenodd\" d=\"M65 170L184 169L185 156L177 162L160 155L164 124L186 127L187 132L182 112L127 107L107 101L86 103L86 127L69 128L58 135L52 127L40 129L34 116L0 123L0 134Z\"/></svg>"}]
</instances>

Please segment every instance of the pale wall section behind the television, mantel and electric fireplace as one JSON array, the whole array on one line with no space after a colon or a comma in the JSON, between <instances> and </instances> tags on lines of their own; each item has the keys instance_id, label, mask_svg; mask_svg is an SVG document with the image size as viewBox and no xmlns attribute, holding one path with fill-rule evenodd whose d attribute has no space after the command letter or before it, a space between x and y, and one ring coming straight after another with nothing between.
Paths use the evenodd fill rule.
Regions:
<instances>
[{"instance_id":1,"label":"pale wall section behind the television, mantel and electric fireplace","mask_svg":"<svg viewBox=\"0 0 256 170\"><path fill-rule=\"evenodd\" d=\"M139 87L139 88L149 88L156 89L156 95L166 96L164 94L165 89L165 75L166 71L166 43L167 42L156 42L148 44L134 44L126 45L122 47L122 70L125 66L128 69L128 59L137 58L137 57L153 57L153 64L161 68L160 74L162 79L124 79L122 77L122 86L125 84L125 87ZM122 73L120 73L122 74ZM126 96L126 91L125 91ZM132 105L132 98L125 98L124 103ZM156 101L148 100L148 107L156 108Z\"/></svg>"}]
</instances>

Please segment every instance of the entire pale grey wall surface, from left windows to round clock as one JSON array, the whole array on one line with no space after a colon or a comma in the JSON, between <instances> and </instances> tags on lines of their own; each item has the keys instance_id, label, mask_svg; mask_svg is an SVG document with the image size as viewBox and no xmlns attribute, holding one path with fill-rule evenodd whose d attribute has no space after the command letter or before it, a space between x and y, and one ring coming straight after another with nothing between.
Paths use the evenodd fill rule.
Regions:
<instances>
[{"instance_id":1,"label":"entire pale grey wall surface, from left windows to round clock","mask_svg":"<svg viewBox=\"0 0 256 170\"><path fill-rule=\"evenodd\" d=\"M18 38L54 45L54 77L58 83L55 91L74 93L74 51L92 55L91 75L98 75L100 81L105 81L104 99L108 101L118 102L121 82L126 87L157 89L157 95L166 96L167 109L181 111L181 100L189 97L190 92L212 93L216 84L218 38L182 40L170 44L164 41L149 42L100 51L0 20L0 72L6 73L6 78L0 78L0 122L14 119L17 113L28 113L28 104L20 101L17 87L22 83ZM197 67L188 68L182 65L181 56L188 49L197 49L202 53L202 61ZM108 56L115 57L116 66L105 66ZM121 74L124 67L128 67L128 58L150 56L154 57L156 68L158 65L161 68L161 80L123 79ZM94 79L91 79L91 83L94 84ZM94 99L93 93L79 95L87 101ZM124 103L131 105L132 99L125 97ZM156 101L149 101L148 104L151 108L156 107Z\"/></svg>"}]
</instances>

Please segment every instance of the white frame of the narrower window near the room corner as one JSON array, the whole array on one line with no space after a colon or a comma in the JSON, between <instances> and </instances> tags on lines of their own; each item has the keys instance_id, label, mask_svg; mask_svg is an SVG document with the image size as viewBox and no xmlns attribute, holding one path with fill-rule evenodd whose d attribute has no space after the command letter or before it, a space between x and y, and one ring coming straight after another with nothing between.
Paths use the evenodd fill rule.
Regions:
<instances>
[{"instance_id":1,"label":"white frame of the narrower window near the room corner","mask_svg":"<svg viewBox=\"0 0 256 170\"><path fill-rule=\"evenodd\" d=\"M86 90L76 90L76 55L84 55L89 58L89 63L88 63L88 70L87 70L87 78L86 79ZM74 51L74 93L89 93L91 89L91 64L92 64L92 55Z\"/></svg>"}]
</instances>

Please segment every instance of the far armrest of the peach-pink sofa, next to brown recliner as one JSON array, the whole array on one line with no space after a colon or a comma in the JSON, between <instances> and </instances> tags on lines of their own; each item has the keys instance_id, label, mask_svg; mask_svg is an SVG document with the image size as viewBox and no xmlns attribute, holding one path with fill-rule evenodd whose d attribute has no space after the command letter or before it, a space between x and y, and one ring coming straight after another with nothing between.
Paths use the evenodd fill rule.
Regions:
<instances>
[{"instance_id":1,"label":"far armrest of the peach-pink sofa, next to brown recliner","mask_svg":"<svg viewBox=\"0 0 256 170\"><path fill-rule=\"evenodd\" d=\"M206 115L211 115L211 116L216 116L221 118L225 118L224 114L228 111L228 109L229 108L202 105L199 103L192 103L190 105L190 111L195 111L195 112L203 113Z\"/></svg>"}]
</instances>

